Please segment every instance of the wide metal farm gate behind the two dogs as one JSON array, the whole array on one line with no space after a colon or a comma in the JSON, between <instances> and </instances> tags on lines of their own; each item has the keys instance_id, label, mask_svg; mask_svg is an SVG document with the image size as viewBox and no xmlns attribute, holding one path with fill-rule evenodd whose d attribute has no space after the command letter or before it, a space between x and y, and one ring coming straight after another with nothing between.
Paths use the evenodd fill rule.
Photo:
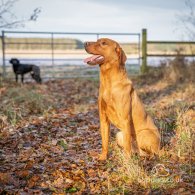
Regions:
<instances>
[{"instance_id":1,"label":"wide metal farm gate behind the two dogs","mask_svg":"<svg viewBox=\"0 0 195 195\"><path fill-rule=\"evenodd\" d=\"M2 31L2 66L0 72L6 78L13 78L9 60L18 58L21 63L40 66L44 79L95 77L98 67L83 63L88 56L84 50L85 41L111 38L121 44L127 55L126 67L130 74L139 72L141 61L139 33L61 33ZM27 77L27 76L26 76ZM30 77L29 77L30 79Z\"/></svg>"}]
</instances>

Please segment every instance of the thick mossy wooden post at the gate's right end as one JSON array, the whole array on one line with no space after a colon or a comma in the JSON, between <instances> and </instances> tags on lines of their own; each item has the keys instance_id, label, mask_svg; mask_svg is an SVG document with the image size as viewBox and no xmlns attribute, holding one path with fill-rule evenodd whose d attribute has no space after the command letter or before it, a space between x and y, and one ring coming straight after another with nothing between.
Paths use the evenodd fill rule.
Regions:
<instances>
[{"instance_id":1,"label":"thick mossy wooden post at the gate's right end","mask_svg":"<svg viewBox=\"0 0 195 195\"><path fill-rule=\"evenodd\" d=\"M144 74L148 70L147 67L147 29L142 29L142 65L141 73Z\"/></svg>"}]
</instances>

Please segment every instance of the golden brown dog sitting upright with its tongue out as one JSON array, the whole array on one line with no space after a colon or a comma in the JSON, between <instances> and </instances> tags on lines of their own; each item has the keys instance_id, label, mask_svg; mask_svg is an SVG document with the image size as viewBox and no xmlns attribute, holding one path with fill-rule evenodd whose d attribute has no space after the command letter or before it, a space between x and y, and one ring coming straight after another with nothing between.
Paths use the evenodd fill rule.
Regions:
<instances>
[{"instance_id":1,"label":"golden brown dog sitting upright with its tongue out","mask_svg":"<svg viewBox=\"0 0 195 195\"><path fill-rule=\"evenodd\" d=\"M120 132L117 143L129 156L158 154L160 134L152 118L145 112L132 82L128 79L126 56L120 45L111 39L86 42L85 50L93 56L85 59L89 65L100 66L99 116L102 153L99 160L107 159L110 123Z\"/></svg>"}]
</instances>

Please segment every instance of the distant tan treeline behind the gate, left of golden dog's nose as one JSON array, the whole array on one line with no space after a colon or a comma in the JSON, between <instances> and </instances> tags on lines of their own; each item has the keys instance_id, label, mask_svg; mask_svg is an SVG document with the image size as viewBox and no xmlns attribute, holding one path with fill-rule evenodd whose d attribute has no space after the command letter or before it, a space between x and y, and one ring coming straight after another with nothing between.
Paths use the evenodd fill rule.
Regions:
<instances>
[{"instance_id":1,"label":"distant tan treeline behind the gate, left of golden dog's nose","mask_svg":"<svg viewBox=\"0 0 195 195\"><path fill-rule=\"evenodd\" d=\"M53 49L82 49L83 42L70 38L5 38L6 49L16 50L50 50ZM2 43L0 43L2 48Z\"/></svg>"}]
</instances>

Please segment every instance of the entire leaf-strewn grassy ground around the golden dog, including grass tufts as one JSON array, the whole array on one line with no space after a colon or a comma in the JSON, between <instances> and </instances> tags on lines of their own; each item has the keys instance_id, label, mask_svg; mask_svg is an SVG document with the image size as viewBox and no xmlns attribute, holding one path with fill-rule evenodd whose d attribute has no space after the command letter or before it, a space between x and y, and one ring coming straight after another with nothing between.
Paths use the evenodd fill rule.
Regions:
<instances>
[{"instance_id":1,"label":"entire leaf-strewn grassy ground around the golden dog, including grass tufts","mask_svg":"<svg viewBox=\"0 0 195 195\"><path fill-rule=\"evenodd\" d=\"M98 78L1 80L0 193L195 193L194 83L157 73L132 80L161 132L159 157L125 159L112 126L109 159L101 163Z\"/></svg>"}]
</instances>

